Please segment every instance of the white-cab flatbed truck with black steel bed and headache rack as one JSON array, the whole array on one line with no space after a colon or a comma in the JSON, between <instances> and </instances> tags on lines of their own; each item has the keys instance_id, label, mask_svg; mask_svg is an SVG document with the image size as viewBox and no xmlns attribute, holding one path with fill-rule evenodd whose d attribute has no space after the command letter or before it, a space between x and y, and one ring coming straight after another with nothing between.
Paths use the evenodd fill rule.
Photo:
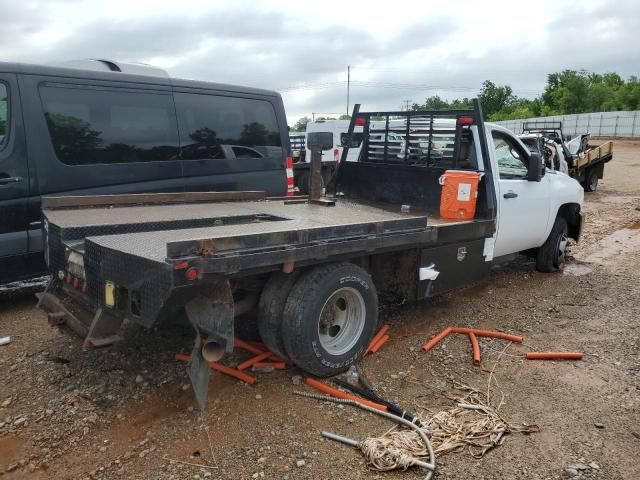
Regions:
<instances>
[{"instance_id":1,"label":"white-cab flatbed truck with black steel bed and headache rack","mask_svg":"<svg viewBox=\"0 0 640 480\"><path fill-rule=\"evenodd\" d=\"M437 162L408 163L397 154L369 161L372 116L387 122L405 116L407 125L426 122L434 133L446 129L454 147ZM117 341L124 319L151 327L184 311L196 333L188 368L202 408L207 362L232 351L234 318L246 321L251 310L272 352L313 375L335 375L360 358L374 335L379 295L419 300L475 283L489 275L500 249L524 248L518 226L502 247L496 240L508 225L497 221L498 172L482 118L477 101L473 110L456 111L356 106L349 134L363 127L360 160L340 162L331 196L319 194L316 149L308 198L262 192L47 198L52 281L39 304L52 325L79 333L87 347ZM439 217L439 178L451 168L483 173L471 220ZM540 158L531 154L527 168L518 181L540 182ZM562 268L567 238L577 240L582 228L581 197L559 191L550 224L544 220L527 240L545 271Z\"/></svg>"}]
</instances>

